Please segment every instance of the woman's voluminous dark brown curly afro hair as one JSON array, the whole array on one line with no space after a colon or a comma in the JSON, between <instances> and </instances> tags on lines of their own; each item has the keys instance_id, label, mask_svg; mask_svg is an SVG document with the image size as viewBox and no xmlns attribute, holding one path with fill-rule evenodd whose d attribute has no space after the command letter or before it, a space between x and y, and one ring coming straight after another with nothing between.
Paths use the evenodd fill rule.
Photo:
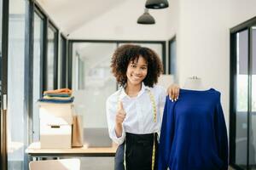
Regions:
<instances>
[{"instance_id":1,"label":"woman's voluminous dark brown curly afro hair","mask_svg":"<svg viewBox=\"0 0 256 170\"><path fill-rule=\"evenodd\" d=\"M125 44L115 50L111 59L113 76L116 77L120 86L124 87L127 82L126 71L130 61L137 60L142 56L148 64L148 73L143 82L148 87L153 87L158 82L158 77L163 72L160 57L150 48L138 45Z\"/></svg>"}]
</instances>

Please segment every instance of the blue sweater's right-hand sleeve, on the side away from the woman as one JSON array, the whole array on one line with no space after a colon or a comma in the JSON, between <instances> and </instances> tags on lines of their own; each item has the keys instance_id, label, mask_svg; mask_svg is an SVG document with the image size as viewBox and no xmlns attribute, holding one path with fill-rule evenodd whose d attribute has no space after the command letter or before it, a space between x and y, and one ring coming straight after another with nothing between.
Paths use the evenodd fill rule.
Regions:
<instances>
[{"instance_id":1,"label":"blue sweater's right-hand sleeve, on the side away from the woman","mask_svg":"<svg viewBox=\"0 0 256 170\"><path fill-rule=\"evenodd\" d=\"M219 99L220 100L220 99ZM222 106L220 101L215 108L215 130L216 130L216 142L218 146L218 156L224 162L221 170L228 169L228 137L227 137L227 129L224 120L224 113L222 110Z\"/></svg>"}]
</instances>

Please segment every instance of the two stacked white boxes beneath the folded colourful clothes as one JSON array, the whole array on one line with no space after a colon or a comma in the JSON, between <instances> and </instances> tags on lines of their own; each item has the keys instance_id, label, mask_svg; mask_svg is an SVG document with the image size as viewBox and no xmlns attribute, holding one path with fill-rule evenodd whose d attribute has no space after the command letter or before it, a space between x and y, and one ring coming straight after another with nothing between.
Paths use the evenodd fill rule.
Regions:
<instances>
[{"instance_id":1,"label":"two stacked white boxes beneath the folded colourful clothes","mask_svg":"<svg viewBox=\"0 0 256 170\"><path fill-rule=\"evenodd\" d=\"M39 118L42 149L71 148L73 100L60 103L39 99Z\"/></svg>"}]
</instances>

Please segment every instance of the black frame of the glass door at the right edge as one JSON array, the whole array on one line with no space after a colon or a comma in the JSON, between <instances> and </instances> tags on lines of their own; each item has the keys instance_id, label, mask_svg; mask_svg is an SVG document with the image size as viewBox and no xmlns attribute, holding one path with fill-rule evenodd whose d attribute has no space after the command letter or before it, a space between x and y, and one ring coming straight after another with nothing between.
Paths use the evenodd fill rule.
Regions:
<instances>
[{"instance_id":1,"label":"black frame of the glass door at the right edge","mask_svg":"<svg viewBox=\"0 0 256 170\"><path fill-rule=\"evenodd\" d=\"M247 86L247 168L249 169L249 142L250 142L250 120L252 114L252 26L256 25L256 17L241 23L230 29L230 166L240 170L243 169L236 164L236 33L241 31L248 31L248 86Z\"/></svg>"}]
</instances>

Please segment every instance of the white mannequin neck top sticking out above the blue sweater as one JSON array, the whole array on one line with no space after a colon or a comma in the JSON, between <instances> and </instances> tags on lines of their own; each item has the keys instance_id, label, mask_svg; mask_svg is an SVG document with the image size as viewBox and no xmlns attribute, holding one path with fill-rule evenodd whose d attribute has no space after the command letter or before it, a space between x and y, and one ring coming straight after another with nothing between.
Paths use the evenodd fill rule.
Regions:
<instances>
[{"instance_id":1,"label":"white mannequin neck top sticking out above the blue sweater","mask_svg":"<svg viewBox=\"0 0 256 170\"><path fill-rule=\"evenodd\" d=\"M188 77L183 86L184 89L189 90L205 90L200 77Z\"/></svg>"}]
</instances>

